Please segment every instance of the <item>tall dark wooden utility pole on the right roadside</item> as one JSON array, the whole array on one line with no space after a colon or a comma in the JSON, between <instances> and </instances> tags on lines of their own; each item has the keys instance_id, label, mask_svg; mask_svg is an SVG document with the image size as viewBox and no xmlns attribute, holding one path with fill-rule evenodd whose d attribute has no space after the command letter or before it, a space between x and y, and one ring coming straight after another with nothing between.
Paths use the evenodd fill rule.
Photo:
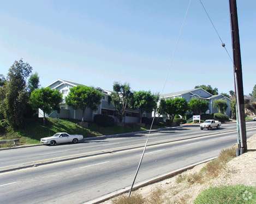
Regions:
<instances>
[{"instance_id":1,"label":"tall dark wooden utility pole on the right roadside","mask_svg":"<svg viewBox=\"0 0 256 204\"><path fill-rule=\"evenodd\" d=\"M242 63L241 63L241 51L240 51L239 26L238 26L238 19L237 19L236 0L229 0L229 8L230 8L235 92L236 92L236 104L237 104L236 118L239 120L239 132L240 132L240 141L241 141L241 145L239 145L239 149L240 149L239 154L242 154L247 151L247 138L246 138L246 123L245 123L245 99L243 96Z\"/></svg>"}]
</instances>

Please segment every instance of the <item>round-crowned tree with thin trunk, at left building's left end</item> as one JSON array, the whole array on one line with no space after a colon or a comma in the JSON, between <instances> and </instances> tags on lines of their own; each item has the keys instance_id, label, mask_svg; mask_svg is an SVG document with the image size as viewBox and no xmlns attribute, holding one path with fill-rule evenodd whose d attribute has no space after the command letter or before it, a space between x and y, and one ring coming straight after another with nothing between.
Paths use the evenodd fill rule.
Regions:
<instances>
[{"instance_id":1,"label":"round-crowned tree with thin trunk, at left building's left end","mask_svg":"<svg viewBox=\"0 0 256 204\"><path fill-rule=\"evenodd\" d=\"M29 99L34 109L43 110L45 125L45 114L58 109L58 104L62 102L62 94L56 89L47 87L33 90Z\"/></svg>"}]
</instances>

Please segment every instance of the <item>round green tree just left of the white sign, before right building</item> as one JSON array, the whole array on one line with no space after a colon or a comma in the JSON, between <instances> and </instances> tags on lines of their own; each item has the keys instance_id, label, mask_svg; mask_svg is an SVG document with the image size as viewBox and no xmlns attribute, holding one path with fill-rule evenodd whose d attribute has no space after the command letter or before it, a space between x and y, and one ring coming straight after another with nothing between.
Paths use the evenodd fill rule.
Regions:
<instances>
[{"instance_id":1,"label":"round green tree just left of the white sign, before right building","mask_svg":"<svg viewBox=\"0 0 256 204\"><path fill-rule=\"evenodd\" d=\"M184 98L170 98L166 100L165 113L168 114L171 121L175 115L184 115L188 110L188 103Z\"/></svg>"}]
</instances>

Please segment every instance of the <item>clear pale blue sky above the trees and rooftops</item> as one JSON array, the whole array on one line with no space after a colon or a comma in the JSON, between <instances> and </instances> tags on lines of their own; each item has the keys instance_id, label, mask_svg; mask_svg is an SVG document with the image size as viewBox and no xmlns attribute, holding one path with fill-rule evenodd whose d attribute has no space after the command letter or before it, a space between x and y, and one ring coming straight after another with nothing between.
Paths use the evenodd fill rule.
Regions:
<instances>
[{"instance_id":1,"label":"clear pale blue sky above the trees and rooftops","mask_svg":"<svg viewBox=\"0 0 256 204\"><path fill-rule=\"evenodd\" d=\"M231 53L228 0L203 0ZM0 73L23 58L41 86L56 79L161 92L188 0L1 1ZM237 0L245 94L256 84L256 1ZM164 93L234 89L233 65L192 0Z\"/></svg>"}]
</instances>

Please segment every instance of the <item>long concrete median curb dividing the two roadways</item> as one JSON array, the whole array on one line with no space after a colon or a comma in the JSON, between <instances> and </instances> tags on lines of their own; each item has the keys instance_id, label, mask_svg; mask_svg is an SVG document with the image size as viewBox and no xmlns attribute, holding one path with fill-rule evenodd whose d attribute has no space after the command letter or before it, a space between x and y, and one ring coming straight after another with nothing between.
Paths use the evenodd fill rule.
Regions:
<instances>
[{"instance_id":1,"label":"long concrete median curb dividing the two roadways","mask_svg":"<svg viewBox=\"0 0 256 204\"><path fill-rule=\"evenodd\" d=\"M251 128L255 129L255 128ZM167 143L174 143L176 141L182 141L182 140L188 140L188 139L195 139L195 138L201 138L201 137L209 137L211 135L216 135L216 134L226 134L230 132L236 132L236 131L228 131L228 132L221 132L221 133L212 133L212 134L204 134L204 135L198 135L194 137L186 137L186 138L180 138L180 139L173 139L173 140L163 140L158 143L152 143L148 144L147 147L150 146L155 146L155 145L162 145L162 144L167 144ZM124 146L124 147L116 147L114 149L109 149L109 150L104 150L104 151L94 151L94 152L86 152L86 153L80 153L80 154L73 154L70 156L63 156L63 157L57 157L57 158L51 158L51 159L44 159L44 160L38 160L38 161L33 161L33 162L28 162L28 163L23 163L23 164L17 164L17 165L11 165L11 166L4 166L0 168L0 173L3 172L8 172L8 171L14 171L14 170L19 170L19 169L26 169L30 167L35 167L35 166L40 166L40 165L45 165L45 164L52 164L52 163L57 163L57 162L64 162L67 160L74 160L74 159L80 159L80 158L86 158L86 157L93 157L93 156L99 156L102 154L108 154L108 153L115 153L115 152L121 152L121 151L127 151L127 150L134 150L134 149L140 149L143 148L144 145L132 145L132 146Z\"/></svg>"}]
</instances>

